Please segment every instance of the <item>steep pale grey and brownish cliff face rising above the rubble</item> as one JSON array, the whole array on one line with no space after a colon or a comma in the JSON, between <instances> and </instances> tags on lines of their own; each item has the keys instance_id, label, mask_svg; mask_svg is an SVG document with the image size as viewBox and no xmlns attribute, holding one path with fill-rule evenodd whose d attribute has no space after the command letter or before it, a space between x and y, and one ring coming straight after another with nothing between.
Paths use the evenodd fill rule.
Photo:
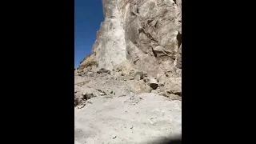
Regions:
<instances>
[{"instance_id":1,"label":"steep pale grey and brownish cliff face rising above the rubble","mask_svg":"<svg viewBox=\"0 0 256 144\"><path fill-rule=\"evenodd\" d=\"M102 0L104 22L80 70L113 70L123 61L151 76L182 69L181 0Z\"/></svg>"}]
</instances>

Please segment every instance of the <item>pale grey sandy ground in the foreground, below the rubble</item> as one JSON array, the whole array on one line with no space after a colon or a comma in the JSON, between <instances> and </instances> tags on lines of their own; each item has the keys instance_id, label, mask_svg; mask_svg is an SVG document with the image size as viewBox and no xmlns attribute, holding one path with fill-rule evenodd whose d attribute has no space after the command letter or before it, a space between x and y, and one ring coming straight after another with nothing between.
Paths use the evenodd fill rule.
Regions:
<instances>
[{"instance_id":1,"label":"pale grey sandy ground in the foreground, below the rubble","mask_svg":"<svg viewBox=\"0 0 256 144\"><path fill-rule=\"evenodd\" d=\"M95 97L74 108L74 143L149 143L182 134L182 102L158 94Z\"/></svg>"}]
</instances>

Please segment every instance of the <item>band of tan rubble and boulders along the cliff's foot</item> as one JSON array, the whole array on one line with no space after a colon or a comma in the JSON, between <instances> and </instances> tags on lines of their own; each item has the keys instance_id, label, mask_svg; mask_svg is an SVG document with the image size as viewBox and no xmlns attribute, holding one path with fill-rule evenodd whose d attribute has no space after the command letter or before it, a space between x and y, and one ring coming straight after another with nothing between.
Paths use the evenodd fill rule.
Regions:
<instances>
[{"instance_id":1,"label":"band of tan rubble and boulders along the cliff's foot","mask_svg":"<svg viewBox=\"0 0 256 144\"><path fill-rule=\"evenodd\" d=\"M146 72L136 70L130 62L122 62L114 70L75 70L74 106L83 105L97 96L120 97L130 93L154 93L172 100L182 100L182 78L170 74L150 77Z\"/></svg>"}]
</instances>

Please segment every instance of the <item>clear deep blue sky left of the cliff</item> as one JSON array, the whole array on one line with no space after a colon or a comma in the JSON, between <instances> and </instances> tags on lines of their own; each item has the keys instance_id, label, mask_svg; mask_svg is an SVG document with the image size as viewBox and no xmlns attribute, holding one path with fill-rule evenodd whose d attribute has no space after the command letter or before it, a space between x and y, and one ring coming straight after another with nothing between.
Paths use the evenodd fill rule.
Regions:
<instances>
[{"instance_id":1,"label":"clear deep blue sky left of the cliff","mask_svg":"<svg viewBox=\"0 0 256 144\"><path fill-rule=\"evenodd\" d=\"M74 67L91 53L103 17L102 0L74 0Z\"/></svg>"}]
</instances>

